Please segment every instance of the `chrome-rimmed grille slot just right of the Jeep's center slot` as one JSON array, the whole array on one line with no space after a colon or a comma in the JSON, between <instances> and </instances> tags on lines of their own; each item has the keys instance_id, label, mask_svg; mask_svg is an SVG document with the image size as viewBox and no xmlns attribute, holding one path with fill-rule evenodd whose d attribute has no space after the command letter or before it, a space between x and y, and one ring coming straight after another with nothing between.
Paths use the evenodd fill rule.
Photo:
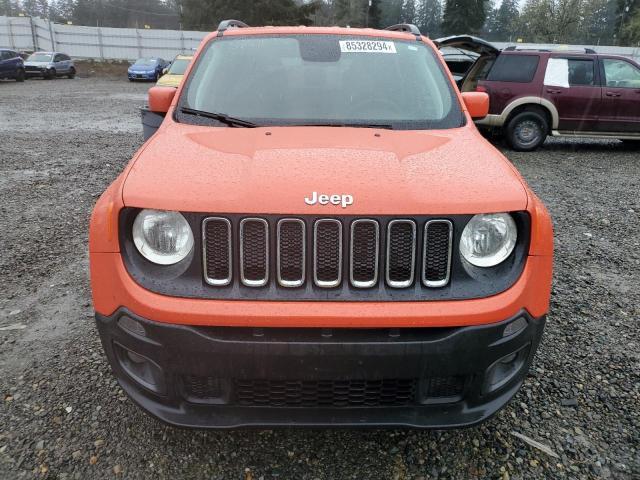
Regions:
<instances>
[{"instance_id":1,"label":"chrome-rimmed grille slot just right of the Jeep's center slot","mask_svg":"<svg viewBox=\"0 0 640 480\"><path fill-rule=\"evenodd\" d=\"M354 220L351 223L350 281L357 288L369 288L378 283L380 256L380 226L375 220Z\"/></svg>"}]
</instances>

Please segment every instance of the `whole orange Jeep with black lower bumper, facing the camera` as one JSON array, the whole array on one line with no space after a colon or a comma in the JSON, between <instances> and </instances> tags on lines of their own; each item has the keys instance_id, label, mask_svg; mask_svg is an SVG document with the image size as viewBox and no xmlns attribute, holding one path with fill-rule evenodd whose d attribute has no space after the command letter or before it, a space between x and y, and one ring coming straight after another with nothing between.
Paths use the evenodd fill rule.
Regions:
<instances>
[{"instance_id":1,"label":"whole orange Jeep with black lower bumper, facing the camera","mask_svg":"<svg viewBox=\"0 0 640 480\"><path fill-rule=\"evenodd\" d=\"M98 201L98 330L190 427L456 427L521 386L549 307L545 207L413 25L222 22Z\"/></svg>"}]
</instances>

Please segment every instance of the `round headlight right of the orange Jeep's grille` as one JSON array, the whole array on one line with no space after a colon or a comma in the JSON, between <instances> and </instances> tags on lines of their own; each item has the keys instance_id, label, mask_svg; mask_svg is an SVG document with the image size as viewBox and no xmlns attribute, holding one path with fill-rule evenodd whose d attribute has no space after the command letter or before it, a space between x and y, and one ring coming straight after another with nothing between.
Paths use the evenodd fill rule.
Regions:
<instances>
[{"instance_id":1,"label":"round headlight right of the orange Jeep's grille","mask_svg":"<svg viewBox=\"0 0 640 480\"><path fill-rule=\"evenodd\" d=\"M476 267L494 267L515 247L518 228L508 213L480 214L462 231L460 254Z\"/></svg>"}]
</instances>

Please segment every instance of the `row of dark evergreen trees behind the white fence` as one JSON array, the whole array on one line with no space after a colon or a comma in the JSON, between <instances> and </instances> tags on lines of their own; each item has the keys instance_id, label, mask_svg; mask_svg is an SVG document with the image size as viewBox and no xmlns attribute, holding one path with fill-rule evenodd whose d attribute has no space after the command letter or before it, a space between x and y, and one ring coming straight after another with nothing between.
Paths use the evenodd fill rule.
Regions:
<instances>
[{"instance_id":1,"label":"row of dark evergreen trees behind the white fence","mask_svg":"<svg viewBox=\"0 0 640 480\"><path fill-rule=\"evenodd\" d=\"M413 23L430 36L506 42L640 45L640 0L0 0L0 15L77 25L214 30L251 25Z\"/></svg>"}]
</instances>

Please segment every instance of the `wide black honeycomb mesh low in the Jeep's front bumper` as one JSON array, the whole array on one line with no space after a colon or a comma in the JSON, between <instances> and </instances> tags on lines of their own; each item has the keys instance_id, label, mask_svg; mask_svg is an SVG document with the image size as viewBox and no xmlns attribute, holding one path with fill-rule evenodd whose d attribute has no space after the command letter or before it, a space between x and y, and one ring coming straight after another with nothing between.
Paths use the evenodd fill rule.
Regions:
<instances>
[{"instance_id":1,"label":"wide black honeycomb mesh low in the Jeep's front bumper","mask_svg":"<svg viewBox=\"0 0 640 480\"><path fill-rule=\"evenodd\" d=\"M236 380L235 399L246 406L377 407L415 403L415 379Z\"/></svg>"}]
</instances>

